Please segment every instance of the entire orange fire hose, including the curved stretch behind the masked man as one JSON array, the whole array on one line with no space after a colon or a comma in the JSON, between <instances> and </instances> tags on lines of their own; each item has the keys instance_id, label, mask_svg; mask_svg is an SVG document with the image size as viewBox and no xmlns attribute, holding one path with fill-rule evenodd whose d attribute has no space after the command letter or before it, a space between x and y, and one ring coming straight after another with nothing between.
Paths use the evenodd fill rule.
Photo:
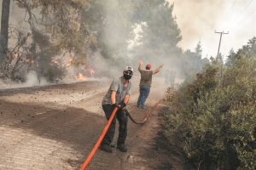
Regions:
<instances>
[{"instance_id":1,"label":"entire orange fire hose, including the curved stretch behind the masked man","mask_svg":"<svg viewBox=\"0 0 256 170\"><path fill-rule=\"evenodd\" d=\"M125 111L125 113L127 114L127 116L130 117L131 122L134 122L135 124L143 124L143 123L147 122L148 117L150 116L150 113L151 113L152 111L154 111L154 110L157 108L157 106L160 104L160 102L161 102L161 100L158 101L158 102L152 107L152 109L150 109L150 110L147 112L147 114L144 116L142 122L137 122L137 121L135 121L135 119L131 116L131 114L129 113L129 111L127 111L127 109L124 109L124 111ZM86 167L88 167L88 165L89 165L91 159L92 159L93 156L96 154L96 150L99 148L100 144L102 143L102 139L105 137L106 133L108 132L108 128L109 128L111 122L113 121L113 117L116 115L116 112L118 111L118 109L119 109L118 107L115 107L115 108L114 108L114 110L113 110L113 112L112 112L110 118L108 119L108 123L107 123L106 127L104 127L101 136L100 136L99 139L97 140L97 142L96 142L96 144L94 145L93 149L90 151L89 156L87 156L86 160L84 161L84 163L83 163L82 166L80 167L80 170L84 170L84 169L86 169Z\"/></svg>"}]
</instances>

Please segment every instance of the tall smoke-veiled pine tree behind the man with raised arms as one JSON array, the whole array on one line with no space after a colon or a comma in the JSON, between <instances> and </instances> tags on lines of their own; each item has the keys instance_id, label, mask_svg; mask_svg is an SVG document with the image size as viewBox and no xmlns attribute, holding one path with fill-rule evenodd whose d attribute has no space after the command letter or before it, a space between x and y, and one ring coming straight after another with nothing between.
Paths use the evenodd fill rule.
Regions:
<instances>
[{"instance_id":1,"label":"tall smoke-veiled pine tree behind the man with raised arms","mask_svg":"<svg viewBox=\"0 0 256 170\"><path fill-rule=\"evenodd\" d=\"M148 9L142 17L145 24L140 41L142 45L137 48L137 55L147 59L172 60L181 54L177 42L182 39L181 31L172 15L174 5L165 1L150 2L144 3Z\"/></svg>"}]
</instances>

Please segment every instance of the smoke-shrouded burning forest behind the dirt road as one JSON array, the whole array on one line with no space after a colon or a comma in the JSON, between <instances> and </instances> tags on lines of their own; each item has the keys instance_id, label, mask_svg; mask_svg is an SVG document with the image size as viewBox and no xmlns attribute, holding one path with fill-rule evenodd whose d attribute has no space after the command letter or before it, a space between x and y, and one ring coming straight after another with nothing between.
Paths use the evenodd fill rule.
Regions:
<instances>
[{"instance_id":1,"label":"smoke-shrouded burning forest behind the dirt road","mask_svg":"<svg viewBox=\"0 0 256 170\"><path fill-rule=\"evenodd\" d=\"M168 63L180 77L190 77L207 62L200 42L195 51L177 47L182 34L174 5L165 0L14 0L15 22L9 19L10 2L3 0L2 8L3 80L26 82L30 71L47 82L70 74L102 76L109 66L118 70L138 59Z\"/></svg>"}]
</instances>

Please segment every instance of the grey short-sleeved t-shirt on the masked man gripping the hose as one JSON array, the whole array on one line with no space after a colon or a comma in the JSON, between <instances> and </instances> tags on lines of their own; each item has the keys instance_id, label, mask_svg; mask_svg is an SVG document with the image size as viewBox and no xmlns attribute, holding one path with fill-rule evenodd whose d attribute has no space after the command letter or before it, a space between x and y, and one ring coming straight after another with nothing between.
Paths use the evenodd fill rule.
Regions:
<instances>
[{"instance_id":1,"label":"grey short-sleeved t-shirt on the masked man gripping the hose","mask_svg":"<svg viewBox=\"0 0 256 170\"><path fill-rule=\"evenodd\" d=\"M113 82L108 88L107 94L102 99L102 105L111 105L111 91L116 92L115 102L119 104L123 99L125 99L126 94L131 95L131 82L129 81L128 86L125 88L123 77L113 79Z\"/></svg>"}]
</instances>

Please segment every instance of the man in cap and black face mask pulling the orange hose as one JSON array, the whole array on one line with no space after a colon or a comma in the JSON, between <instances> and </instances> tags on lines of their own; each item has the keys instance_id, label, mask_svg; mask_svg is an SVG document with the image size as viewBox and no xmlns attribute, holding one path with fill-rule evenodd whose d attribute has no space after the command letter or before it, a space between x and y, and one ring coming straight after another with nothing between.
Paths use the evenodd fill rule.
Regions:
<instances>
[{"instance_id":1,"label":"man in cap and black face mask pulling the orange hose","mask_svg":"<svg viewBox=\"0 0 256 170\"><path fill-rule=\"evenodd\" d=\"M115 107L119 107L115 117L113 118L113 122L111 123L106 136L102 140L102 144L100 149L107 151L109 153L112 152L112 148L110 146L113 141L113 135L115 130L115 122L116 118L119 121L119 138L117 141L117 148L121 151L126 151L125 139L127 136L127 116L125 111L123 111L125 105L127 105L130 95L131 95L131 82L130 79L133 75L133 69L131 66L126 66L123 71L123 76L118 79L114 79L108 88L108 93L104 96L102 100L102 108L105 112L105 116L107 119L110 118L113 109Z\"/></svg>"}]
</instances>

